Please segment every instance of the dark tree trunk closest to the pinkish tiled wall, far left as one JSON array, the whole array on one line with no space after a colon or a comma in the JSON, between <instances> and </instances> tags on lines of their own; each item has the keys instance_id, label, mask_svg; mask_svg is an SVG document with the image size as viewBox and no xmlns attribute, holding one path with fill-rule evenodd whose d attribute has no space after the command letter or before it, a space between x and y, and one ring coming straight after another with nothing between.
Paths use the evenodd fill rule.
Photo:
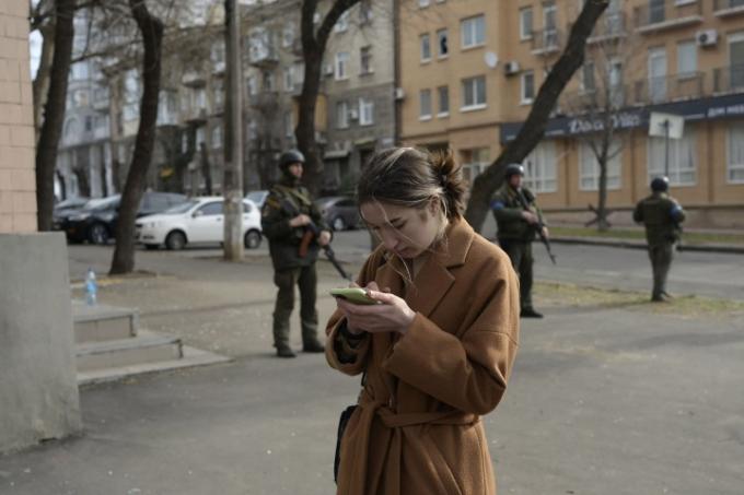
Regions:
<instances>
[{"instance_id":1,"label":"dark tree trunk closest to the pinkish tiled wall, far left","mask_svg":"<svg viewBox=\"0 0 744 495\"><path fill-rule=\"evenodd\" d=\"M49 92L44 105L44 122L36 145L36 219L39 231L51 229L55 207L57 148L65 123L67 78L72 58L74 0L57 0L55 5L55 50L49 73Z\"/></svg>"}]
</instances>

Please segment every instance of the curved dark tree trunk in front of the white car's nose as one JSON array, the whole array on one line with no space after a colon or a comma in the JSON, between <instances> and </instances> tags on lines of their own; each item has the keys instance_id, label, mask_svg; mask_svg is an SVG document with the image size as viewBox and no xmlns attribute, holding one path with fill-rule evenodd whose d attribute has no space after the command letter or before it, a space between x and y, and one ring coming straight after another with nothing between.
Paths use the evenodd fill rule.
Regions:
<instances>
[{"instance_id":1,"label":"curved dark tree trunk in front of the white car's nose","mask_svg":"<svg viewBox=\"0 0 744 495\"><path fill-rule=\"evenodd\" d=\"M121 192L119 219L116 225L116 249L109 273L129 273L135 269L135 220L142 200L148 167L155 146L155 125L161 79L163 23L148 11L142 0L129 0L131 14L142 35L142 99L135 152Z\"/></svg>"}]
</instances>

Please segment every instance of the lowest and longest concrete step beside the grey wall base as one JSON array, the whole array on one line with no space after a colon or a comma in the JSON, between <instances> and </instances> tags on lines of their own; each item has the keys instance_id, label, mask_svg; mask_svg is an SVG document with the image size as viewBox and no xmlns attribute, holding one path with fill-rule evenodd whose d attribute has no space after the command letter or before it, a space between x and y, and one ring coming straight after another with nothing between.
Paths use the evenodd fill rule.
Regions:
<instances>
[{"instance_id":1,"label":"lowest and longest concrete step beside the grey wall base","mask_svg":"<svg viewBox=\"0 0 744 495\"><path fill-rule=\"evenodd\" d=\"M116 381L138 375L168 372L195 366L207 366L218 363L229 363L229 357L213 354L207 351L184 345L183 357L179 360L161 361L156 363L144 363L130 366L107 367L78 372L78 385L95 385L106 381Z\"/></svg>"}]
</instances>

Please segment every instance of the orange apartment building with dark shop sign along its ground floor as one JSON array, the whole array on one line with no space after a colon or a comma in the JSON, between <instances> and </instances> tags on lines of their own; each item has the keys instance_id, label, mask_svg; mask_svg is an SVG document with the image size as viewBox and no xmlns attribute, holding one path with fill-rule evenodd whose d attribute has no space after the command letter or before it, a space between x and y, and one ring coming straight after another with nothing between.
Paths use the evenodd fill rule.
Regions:
<instances>
[{"instance_id":1,"label":"orange apartment building with dark shop sign along its ground floor","mask_svg":"<svg viewBox=\"0 0 744 495\"><path fill-rule=\"evenodd\" d=\"M402 9L403 139L454 149L474 175L515 138L567 39L581 0L411 0ZM441 39L447 52L441 52ZM682 116L670 140L672 190L693 225L744 226L744 2L613 0L590 39L586 63L525 160L527 184L551 219L583 221L596 204L598 166L588 139L592 111L612 101L611 220L664 173L665 139L650 138L653 111ZM449 89L449 104L445 89ZM447 106L449 105L449 106Z\"/></svg>"}]
</instances>

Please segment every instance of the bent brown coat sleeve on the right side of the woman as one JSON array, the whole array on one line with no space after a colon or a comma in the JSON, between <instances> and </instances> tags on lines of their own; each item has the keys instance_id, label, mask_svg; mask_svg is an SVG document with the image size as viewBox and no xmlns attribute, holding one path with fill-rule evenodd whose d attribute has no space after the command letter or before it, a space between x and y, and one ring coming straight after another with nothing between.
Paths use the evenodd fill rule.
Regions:
<instances>
[{"instance_id":1,"label":"bent brown coat sleeve on the right side of the woman","mask_svg":"<svg viewBox=\"0 0 744 495\"><path fill-rule=\"evenodd\" d=\"M470 309L477 317L462 337L417 314L385 357L384 368L460 411L491 412L507 389L520 325L516 276L507 260L499 266L497 273L488 271L496 278L489 297Z\"/></svg>"}]
</instances>

